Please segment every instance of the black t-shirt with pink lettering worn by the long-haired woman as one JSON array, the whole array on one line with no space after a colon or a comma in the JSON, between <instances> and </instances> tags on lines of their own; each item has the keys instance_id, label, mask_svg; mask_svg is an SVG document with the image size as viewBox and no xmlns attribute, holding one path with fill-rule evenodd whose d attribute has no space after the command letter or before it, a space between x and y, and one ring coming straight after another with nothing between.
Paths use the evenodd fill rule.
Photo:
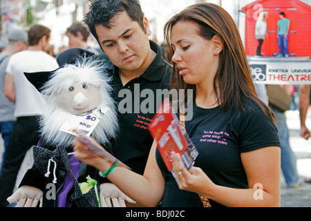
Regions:
<instances>
[{"instance_id":1,"label":"black t-shirt with pink lettering worn by the long-haired woman","mask_svg":"<svg viewBox=\"0 0 311 221\"><path fill-rule=\"evenodd\" d=\"M241 153L267 146L281 146L276 126L253 101L245 99L245 109L223 112L200 108L194 102L193 118L186 131L198 150L194 166L200 167L212 182L221 186L247 189ZM159 151L158 166L165 181L161 206L202 206L197 193L181 191L167 170ZM260 168L258 168L260 173ZM210 200L211 206L222 206Z\"/></svg>"}]
</instances>

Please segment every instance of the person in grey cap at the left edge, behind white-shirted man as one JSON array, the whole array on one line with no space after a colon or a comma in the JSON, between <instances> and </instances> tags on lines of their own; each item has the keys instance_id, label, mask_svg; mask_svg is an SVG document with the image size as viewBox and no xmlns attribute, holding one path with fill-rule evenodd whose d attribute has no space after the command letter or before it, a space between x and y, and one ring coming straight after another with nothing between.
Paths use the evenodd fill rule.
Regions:
<instances>
[{"instance_id":1,"label":"person in grey cap at the left edge, behind white-shirted man","mask_svg":"<svg viewBox=\"0 0 311 221\"><path fill-rule=\"evenodd\" d=\"M11 102L4 94L4 79L6 77L6 66L11 55L21 50L26 50L28 46L28 34L21 29L12 29L8 35L8 46L0 53L0 133L4 141L4 152L2 158L6 155L6 147L15 122L14 102ZM2 160L3 163L3 160ZM0 173L1 173L0 166Z\"/></svg>"}]
</instances>

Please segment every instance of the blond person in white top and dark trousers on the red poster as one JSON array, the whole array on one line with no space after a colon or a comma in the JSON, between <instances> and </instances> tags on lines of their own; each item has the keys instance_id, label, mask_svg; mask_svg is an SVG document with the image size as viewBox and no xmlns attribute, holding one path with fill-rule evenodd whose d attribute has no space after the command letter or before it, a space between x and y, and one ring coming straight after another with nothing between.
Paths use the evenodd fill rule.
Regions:
<instances>
[{"instance_id":1,"label":"blond person in white top and dark trousers on the red poster","mask_svg":"<svg viewBox=\"0 0 311 221\"><path fill-rule=\"evenodd\" d=\"M256 57L262 57L261 46L263 45L263 41L265 40L265 37L267 37L267 18L268 17L269 17L268 12L261 12L256 21L255 35L256 35L256 39L258 40Z\"/></svg>"}]
</instances>

